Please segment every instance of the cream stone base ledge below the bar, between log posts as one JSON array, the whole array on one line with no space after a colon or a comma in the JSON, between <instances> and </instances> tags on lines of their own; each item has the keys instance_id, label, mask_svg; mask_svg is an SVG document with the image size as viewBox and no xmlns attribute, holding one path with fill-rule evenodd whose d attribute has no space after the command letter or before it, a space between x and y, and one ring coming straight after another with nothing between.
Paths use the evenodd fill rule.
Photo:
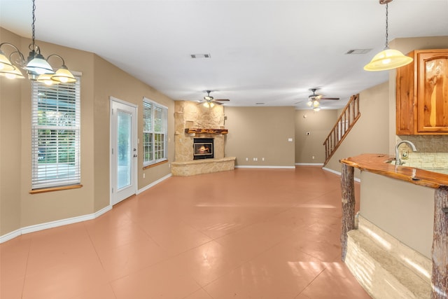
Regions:
<instances>
[{"instance_id":1,"label":"cream stone base ledge below the bar, between log posts","mask_svg":"<svg viewBox=\"0 0 448 299\"><path fill-rule=\"evenodd\" d=\"M424 299L431 293L431 260L362 216L348 232L345 263L372 298Z\"/></svg>"}]
</instances>

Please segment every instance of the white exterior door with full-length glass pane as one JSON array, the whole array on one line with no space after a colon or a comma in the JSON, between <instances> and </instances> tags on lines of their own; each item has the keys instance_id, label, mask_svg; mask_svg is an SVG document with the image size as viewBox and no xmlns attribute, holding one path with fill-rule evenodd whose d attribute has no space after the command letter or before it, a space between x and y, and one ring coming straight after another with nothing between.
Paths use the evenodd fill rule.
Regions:
<instances>
[{"instance_id":1,"label":"white exterior door with full-length glass pane","mask_svg":"<svg viewBox=\"0 0 448 299\"><path fill-rule=\"evenodd\" d=\"M137 106L111 97L111 204L137 193Z\"/></svg>"}]
</instances>

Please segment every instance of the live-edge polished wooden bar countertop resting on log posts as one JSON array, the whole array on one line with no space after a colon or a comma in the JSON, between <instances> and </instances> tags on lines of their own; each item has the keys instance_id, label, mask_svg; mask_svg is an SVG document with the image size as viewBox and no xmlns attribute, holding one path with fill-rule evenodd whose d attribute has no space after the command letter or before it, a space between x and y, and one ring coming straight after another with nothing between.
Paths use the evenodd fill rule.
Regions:
<instances>
[{"instance_id":1,"label":"live-edge polished wooden bar countertop resting on log posts","mask_svg":"<svg viewBox=\"0 0 448 299\"><path fill-rule=\"evenodd\" d=\"M382 153L365 153L362 155L356 155L355 157L341 159L339 162L351 167L356 167L366 172L373 172L375 174L381 174L393 179L408 181L409 183L414 183L415 185L435 189L442 186L448 186L448 174L429 172L427 170L414 167L393 165L388 163L388 161L391 160L394 160L394 157L391 155Z\"/></svg>"}]
</instances>

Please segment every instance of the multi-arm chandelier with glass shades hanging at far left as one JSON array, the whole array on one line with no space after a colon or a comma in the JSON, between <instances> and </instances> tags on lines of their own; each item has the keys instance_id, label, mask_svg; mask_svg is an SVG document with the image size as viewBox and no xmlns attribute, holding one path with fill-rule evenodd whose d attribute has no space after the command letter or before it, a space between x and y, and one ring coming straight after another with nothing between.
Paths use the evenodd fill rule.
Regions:
<instances>
[{"instance_id":1,"label":"multi-arm chandelier with glass shades hanging at far left","mask_svg":"<svg viewBox=\"0 0 448 299\"><path fill-rule=\"evenodd\" d=\"M47 85L58 84L58 83L73 83L76 82L76 78L71 74L69 69L66 67L64 58L57 54L52 54L47 57L41 55L41 48L36 45L35 33L34 33L34 22L36 22L36 4L33 1L33 23L31 25L32 29L32 42L29 45L29 55L27 60L25 56L20 52L20 50L14 46L12 43L0 43L0 76L5 76L6 78L25 78L22 75L21 69L25 69L28 78L31 81L38 81L45 83ZM1 50L2 48L12 48L9 57L6 57L5 52ZM48 63L50 58L56 57L62 60L62 66L53 71L52 67Z\"/></svg>"}]
</instances>

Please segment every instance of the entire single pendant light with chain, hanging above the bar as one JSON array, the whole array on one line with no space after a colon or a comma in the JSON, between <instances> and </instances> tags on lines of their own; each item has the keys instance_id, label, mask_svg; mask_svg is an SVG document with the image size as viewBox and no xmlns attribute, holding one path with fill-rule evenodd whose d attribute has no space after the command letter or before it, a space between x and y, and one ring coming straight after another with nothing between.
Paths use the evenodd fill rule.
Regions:
<instances>
[{"instance_id":1,"label":"entire single pendant light with chain, hanging above the bar","mask_svg":"<svg viewBox=\"0 0 448 299\"><path fill-rule=\"evenodd\" d=\"M413 61L412 57L403 55L399 50L389 48L388 41L388 3L393 0L379 0L379 4L386 4L386 47L377 55L374 55L372 61L365 65L365 71L387 71L396 69L409 64Z\"/></svg>"}]
</instances>

